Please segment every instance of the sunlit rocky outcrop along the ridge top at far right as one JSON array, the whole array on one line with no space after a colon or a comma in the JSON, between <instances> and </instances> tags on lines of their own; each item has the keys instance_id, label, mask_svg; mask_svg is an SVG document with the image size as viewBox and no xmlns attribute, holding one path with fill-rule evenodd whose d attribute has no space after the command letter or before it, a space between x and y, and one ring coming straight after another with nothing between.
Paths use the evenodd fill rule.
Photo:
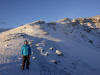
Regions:
<instances>
[{"instance_id":1,"label":"sunlit rocky outcrop along the ridge top at far right","mask_svg":"<svg viewBox=\"0 0 100 75\"><path fill-rule=\"evenodd\" d=\"M100 29L100 16L72 19L72 23Z\"/></svg>"}]
</instances>

